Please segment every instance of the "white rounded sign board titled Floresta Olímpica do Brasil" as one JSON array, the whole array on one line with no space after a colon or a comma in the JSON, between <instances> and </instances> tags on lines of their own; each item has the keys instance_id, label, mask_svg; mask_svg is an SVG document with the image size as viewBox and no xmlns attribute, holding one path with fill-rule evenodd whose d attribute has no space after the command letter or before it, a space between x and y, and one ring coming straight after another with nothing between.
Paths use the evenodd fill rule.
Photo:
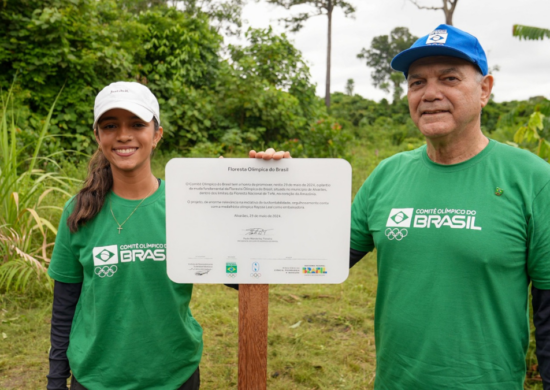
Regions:
<instances>
[{"instance_id":1,"label":"white rounded sign board titled Floresta Ol\u00edmpica do Brasil","mask_svg":"<svg viewBox=\"0 0 550 390\"><path fill-rule=\"evenodd\" d=\"M177 283L342 283L350 214L345 160L170 160L168 276Z\"/></svg>"}]
</instances>

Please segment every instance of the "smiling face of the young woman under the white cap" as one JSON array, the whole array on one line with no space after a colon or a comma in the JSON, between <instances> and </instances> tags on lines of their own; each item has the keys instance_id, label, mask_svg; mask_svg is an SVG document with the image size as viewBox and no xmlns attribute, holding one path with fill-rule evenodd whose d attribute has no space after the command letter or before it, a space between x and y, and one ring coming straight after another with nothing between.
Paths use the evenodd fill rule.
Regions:
<instances>
[{"instance_id":1,"label":"smiling face of the young woman under the white cap","mask_svg":"<svg viewBox=\"0 0 550 390\"><path fill-rule=\"evenodd\" d=\"M162 137L162 127L155 131L152 120L145 122L116 108L99 118L95 136L113 171L135 173L150 169L151 152Z\"/></svg>"}]
</instances>

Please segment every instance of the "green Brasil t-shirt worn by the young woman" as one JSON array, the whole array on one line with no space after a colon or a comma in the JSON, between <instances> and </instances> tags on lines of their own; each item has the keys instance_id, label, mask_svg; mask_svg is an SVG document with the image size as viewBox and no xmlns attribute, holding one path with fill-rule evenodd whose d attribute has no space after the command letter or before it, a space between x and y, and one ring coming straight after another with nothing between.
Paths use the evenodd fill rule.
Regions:
<instances>
[{"instance_id":1,"label":"green Brasil t-shirt worn by the young woman","mask_svg":"<svg viewBox=\"0 0 550 390\"><path fill-rule=\"evenodd\" d=\"M166 275L164 182L124 224L99 214L70 233L69 201L59 225L48 274L82 282L67 356L74 376L91 390L177 389L197 369L202 329L191 315L193 286ZM123 222L140 200L111 192Z\"/></svg>"}]
</instances>

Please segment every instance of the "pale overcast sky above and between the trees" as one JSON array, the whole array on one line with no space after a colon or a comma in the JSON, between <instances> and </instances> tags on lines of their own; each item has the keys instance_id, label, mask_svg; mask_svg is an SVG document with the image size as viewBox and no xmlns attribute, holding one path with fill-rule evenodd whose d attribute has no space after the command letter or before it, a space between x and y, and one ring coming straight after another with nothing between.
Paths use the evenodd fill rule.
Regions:
<instances>
[{"instance_id":1,"label":"pale overcast sky above and between the trees","mask_svg":"<svg viewBox=\"0 0 550 390\"><path fill-rule=\"evenodd\" d=\"M395 27L408 27L413 35L427 35L445 22L442 10L419 10L409 0L348 0L356 6L355 18L346 18L334 11L332 36L332 91L345 89L346 81L355 81L355 93L363 97L391 100L389 93L375 88L371 69L357 58L362 48L369 48L372 39L387 35ZM418 0L419 4L440 6L442 0ZM272 25L285 32L278 18L295 14L303 8L285 10L251 1L243 12L244 31L248 27ZM494 98L498 102L525 100L533 96L550 98L550 39L520 41L512 37L514 24L550 28L550 0L459 0L453 24L475 35L487 53L489 66L498 65L494 73ZM311 69L317 94L325 95L327 17L310 19L298 33L287 32L302 52ZM234 39L229 40L236 43ZM244 43L244 41L241 41Z\"/></svg>"}]
</instances>

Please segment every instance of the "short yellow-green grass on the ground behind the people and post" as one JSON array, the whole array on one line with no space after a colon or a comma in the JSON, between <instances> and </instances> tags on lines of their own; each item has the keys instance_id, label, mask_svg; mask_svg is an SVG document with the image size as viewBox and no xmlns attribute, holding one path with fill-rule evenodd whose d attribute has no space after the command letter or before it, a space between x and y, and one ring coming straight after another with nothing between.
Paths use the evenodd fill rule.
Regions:
<instances>
[{"instance_id":1,"label":"short yellow-green grass on the ground behind the people and post","mask_svg":"<svg viewBox=\"0 0 550 390\"><path fill-rule=\"evenodd\" d=\"M381 159L396 151L354 145L353 192ZM164 177L168 159L155 157L156 176ZM78 178L84 168L66 167L72 169L67 172L70 176ZM372 389L376 287L373 254L357 264L343 284L270 286L268 388ZM204 329L202 388L237 389L237 292L225 286L196 285L191 309ZM0 295L0 389L45 387L50 310L50 296ZM533 364L531 343L528 366ZM528 380L525 389L542 390L542 385Z\"/></svg>"}]
</instances>

